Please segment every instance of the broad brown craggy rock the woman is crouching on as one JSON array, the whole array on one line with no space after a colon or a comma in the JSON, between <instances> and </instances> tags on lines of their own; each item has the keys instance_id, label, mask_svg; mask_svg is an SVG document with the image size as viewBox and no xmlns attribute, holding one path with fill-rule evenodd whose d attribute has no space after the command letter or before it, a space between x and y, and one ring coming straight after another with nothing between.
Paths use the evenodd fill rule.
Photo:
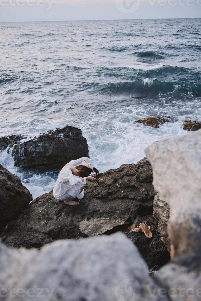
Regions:
<instances>
[{"instance_id":1,"label":"broad brown craggy rock the woman is crouching on","mask_svg":"<svg viewBox=\"0 0 201 301\"><path fill-rule=\"evenodd\" d=\"M8 225L1 235L2 241L12 247L41 247L59 238L123 231L137 216L152 216L152 168L146 159L101 174L100 183L100 187L94 183L85 186L85 196L79 206L55 200L52 191L38 197L16 221ZM150 244L149 241L146 243ZM156 248L156 244L153 246ZM139 246L140 251L142 248L145 250L145 245ZM159 247L156 252L159 252ZM163 243L161 254L166 260ZM150 259L148 264L152 264Z\"/></svg>"}]
</instances>

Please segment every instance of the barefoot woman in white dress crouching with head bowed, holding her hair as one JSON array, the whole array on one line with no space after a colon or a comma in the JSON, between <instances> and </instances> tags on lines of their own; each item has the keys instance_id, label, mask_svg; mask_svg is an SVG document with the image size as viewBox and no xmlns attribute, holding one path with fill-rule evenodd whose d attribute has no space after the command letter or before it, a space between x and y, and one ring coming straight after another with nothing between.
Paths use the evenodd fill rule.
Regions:
<instances>
[{"instance_id":1,"label":"barefoot woman in white dress crouching with head bowed, holding her hair","mask_svg":"<svg viewBox=\"0 0 201 301\"><path fill-rule=\"evenodd\" d=\"M60 171L57 182L53 189L53 196L58 201L64 201L67 205L77 205L73 198L84 197L84 186L86 180L94 182L97 179L89 176L93 171L93 166L87 157L72 160Z\"/></svg>"}]
</instances>

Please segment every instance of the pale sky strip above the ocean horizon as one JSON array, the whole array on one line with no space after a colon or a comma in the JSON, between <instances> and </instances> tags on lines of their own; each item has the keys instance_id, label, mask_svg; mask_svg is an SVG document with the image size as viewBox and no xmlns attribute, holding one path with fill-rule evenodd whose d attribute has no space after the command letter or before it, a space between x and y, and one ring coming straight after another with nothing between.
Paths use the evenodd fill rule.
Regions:
<instances>
[{"instance_id":1,"label":"pale sky strip above the ocean horizon","mask_svg":"<svg viewBox=\"0 0 201 301\"><path fill-rule=\"evenodd\" d=\"M0 22L201 18L201 0L0 0Z\"/></svg>"}]
</instances>

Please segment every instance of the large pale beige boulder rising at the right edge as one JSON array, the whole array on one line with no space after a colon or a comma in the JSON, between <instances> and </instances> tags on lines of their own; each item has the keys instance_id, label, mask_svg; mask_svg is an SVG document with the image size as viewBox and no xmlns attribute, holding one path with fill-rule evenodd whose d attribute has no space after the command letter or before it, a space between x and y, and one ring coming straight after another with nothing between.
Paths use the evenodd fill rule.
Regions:
<instances>
[{"instance_id":1,"label":"large pale beige boulder rising at the right edge","mask_svg":"<svg viewBox=\"0 0 201 301\"><path fill-rule=\"evenodd\" d=\"M168 234L172 258L201 247L200 140L201 130L158 141L146 150L154 187L171 208Z\"/></svg>"}]
</instances>

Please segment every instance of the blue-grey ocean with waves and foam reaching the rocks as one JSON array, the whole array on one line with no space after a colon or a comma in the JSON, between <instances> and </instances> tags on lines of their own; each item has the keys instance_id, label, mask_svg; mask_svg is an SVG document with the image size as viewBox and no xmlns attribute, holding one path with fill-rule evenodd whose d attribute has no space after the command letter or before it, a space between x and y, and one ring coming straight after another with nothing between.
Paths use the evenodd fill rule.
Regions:
<instances>
[{"instance_id":1,"label":"blue-grey ocean with waves and foam reaching the rocks","mask_svg":"<svg viewBox=\"0 0 201 301\"><path fill-rule=\"evenodd\" d=\"M0 23L0 136L81 128L104 172L145 156L152 142L186 133L201 119L201 19ZM175 116L160 128L133 123ZM0 163L33 197L57 172L23 171L6 151Z\"/></svg>"}]
</instances>

